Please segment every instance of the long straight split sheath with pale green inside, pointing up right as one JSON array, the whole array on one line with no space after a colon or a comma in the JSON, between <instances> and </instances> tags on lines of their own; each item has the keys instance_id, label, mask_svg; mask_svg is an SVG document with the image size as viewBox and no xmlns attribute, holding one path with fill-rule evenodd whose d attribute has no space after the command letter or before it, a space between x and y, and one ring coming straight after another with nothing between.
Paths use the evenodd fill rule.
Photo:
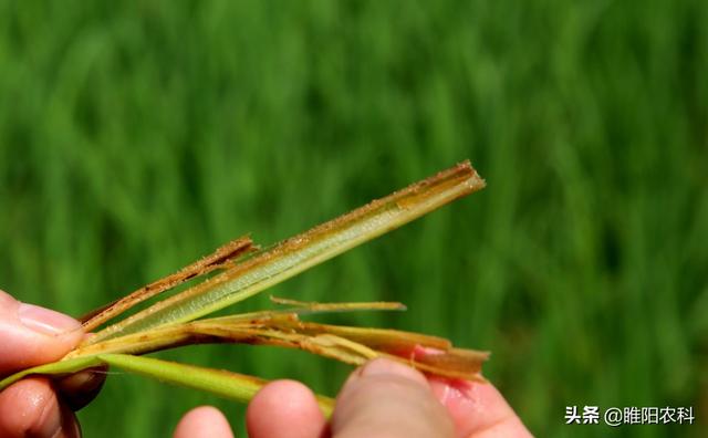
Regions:
<instances>
[{"instance_id":1,"label":"long straight split sheath with pale green inside, pointing up right","mask_svg":"<svg viewBox=\"0 0 708 438\"><path fill-rule=\"evenodd\" d=\"M226 272L104 328L88 343L195 320L244 300L317 263L485 187L469 161L374 200Z\"/></svg>"}]
</instances>

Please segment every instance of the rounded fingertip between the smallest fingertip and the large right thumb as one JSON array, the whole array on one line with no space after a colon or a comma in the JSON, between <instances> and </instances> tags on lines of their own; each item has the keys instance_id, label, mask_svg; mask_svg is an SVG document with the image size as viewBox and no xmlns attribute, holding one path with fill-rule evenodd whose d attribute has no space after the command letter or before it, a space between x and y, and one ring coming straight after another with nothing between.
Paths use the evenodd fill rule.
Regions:
<instances>
[{"instance_id":1,"label":"rounded fingertip between the smallest fingertip and the large right thumb","mask_svg":"<svg viewBox=\"0 0 708 438\"><path fill-rule=\"evenodd\" d=\"M310 388L295 380L275 380L253 397L246 413L251 438L320 437L324 415Z\"/></svg>"}]
</instances>

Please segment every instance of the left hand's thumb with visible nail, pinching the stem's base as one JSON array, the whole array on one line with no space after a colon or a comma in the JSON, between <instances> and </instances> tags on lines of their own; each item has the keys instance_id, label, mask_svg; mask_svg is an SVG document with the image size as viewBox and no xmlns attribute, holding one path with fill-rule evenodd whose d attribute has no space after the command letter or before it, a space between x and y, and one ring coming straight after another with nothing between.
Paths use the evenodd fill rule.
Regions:
<instances>
[{"instance_id":1,"label":"left hand's thumb with visible nail, pinching the stem's base","mask_svg":"<svg viewBox=\"0 0 708 438\"><path fill-rule=\"evenodd\" d=\"M56 361L82 336L79 321L0 291L0 376Z\"/></svg>"}]
</instances>

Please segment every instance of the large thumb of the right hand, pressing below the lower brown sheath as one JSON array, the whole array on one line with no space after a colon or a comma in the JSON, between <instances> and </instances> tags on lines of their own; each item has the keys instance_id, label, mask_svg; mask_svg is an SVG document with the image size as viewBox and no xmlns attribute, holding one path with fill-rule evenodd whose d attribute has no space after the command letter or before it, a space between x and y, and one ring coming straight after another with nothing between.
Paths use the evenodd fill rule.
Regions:
<instances>
[{"instance_id":1,"label":"large thumb of the right hand, pressing below the lower brown sheath","mask_svg":"<svg viewBox=\"0 0 708 438\"><path fill-rule=\"evenodd\" d=\"M450 416L417 371L374 359L348 378L336 400L336 438L454 437Z\"/></svg>"}]
</instances>

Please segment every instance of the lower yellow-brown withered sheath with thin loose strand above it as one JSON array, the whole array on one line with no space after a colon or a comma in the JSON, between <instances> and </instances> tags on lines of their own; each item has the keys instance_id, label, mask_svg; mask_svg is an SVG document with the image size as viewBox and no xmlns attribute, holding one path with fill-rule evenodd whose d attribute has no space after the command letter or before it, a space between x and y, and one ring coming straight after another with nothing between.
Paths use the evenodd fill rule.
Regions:
<instances>
[{"instance_id":1,"label":"lower yellow-brown withered sheath with thin loose strand above it","mask_svg":"<svg viewBox=\"0 0 708 438\"><path fill-rule=\"evenodd\" d=\"M385 304L395 309L397 303L371 303L369 309L383 309ZM352 304L340 304L342 307L347 305ZM105 353L145 354L201 343L275 345L303 350L351 365L388 357L439 376L476 380L481 379L481 364L488 357L485 352L454 348L449 341L440 337L395 330L317 324L300 321L296 313L261 312L248 319L220 317L157 327L81 347L67 358Z\"/></svg>"}]
</instances>

